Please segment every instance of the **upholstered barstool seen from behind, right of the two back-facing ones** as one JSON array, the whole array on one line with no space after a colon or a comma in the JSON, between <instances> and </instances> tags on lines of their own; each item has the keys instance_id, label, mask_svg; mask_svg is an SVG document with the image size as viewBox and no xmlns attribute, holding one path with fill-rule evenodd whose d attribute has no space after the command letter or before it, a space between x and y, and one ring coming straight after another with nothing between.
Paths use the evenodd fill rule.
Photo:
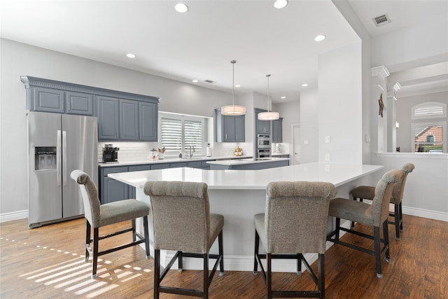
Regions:
<instances>
[{"instance_id":1,"label":"upholstered barstool seen from behind, right of the two back-facing ones","mask_svg":"<svg viewBox=\"0 0 448 299\"><path fill-rule=\"evenodd\" d=\"M254 217L255 260L267 286L267 298L317 297L325 298L325 237L328 223L328 204L336 195L332 183L323 182L272 182L267 185L264 214ZM260 240L266 254L259 253ZM318 253L318 277L309 267L302 253ZM266 258L267 271L261 263ZM297 274L302 262L309 271L317 291L272 291L272 258L297 260Z\"/></svg>"}]
</instances>

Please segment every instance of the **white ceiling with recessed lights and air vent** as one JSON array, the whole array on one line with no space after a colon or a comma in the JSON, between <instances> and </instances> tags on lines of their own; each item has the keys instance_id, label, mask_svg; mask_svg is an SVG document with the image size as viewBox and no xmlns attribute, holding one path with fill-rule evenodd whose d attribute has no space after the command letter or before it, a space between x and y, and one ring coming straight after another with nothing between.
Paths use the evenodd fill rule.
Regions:
<instances>
[{"instance_id":1,"label":"white ceiling with recessed lights and air vent","mask_svg":"<svg viewBox=\"0 0 448 299\"><path fill-rule=\"evenodd\" d=\"M317 55L359 40L331 1L289 1L282 9L272 0L182 1L190 8L183 14L174 11L177 2L1 0L0 36L227 92L230 60L237 60L235 93L266 94L266 74L272 74L273 102L316 88ZM446 18L446 1L349 4L372 36L412 25L423 14ZM376 27L372 18L384 13L392 22ZM317 34L326 39L314 41Z\"/></svg>"}]
</instances>

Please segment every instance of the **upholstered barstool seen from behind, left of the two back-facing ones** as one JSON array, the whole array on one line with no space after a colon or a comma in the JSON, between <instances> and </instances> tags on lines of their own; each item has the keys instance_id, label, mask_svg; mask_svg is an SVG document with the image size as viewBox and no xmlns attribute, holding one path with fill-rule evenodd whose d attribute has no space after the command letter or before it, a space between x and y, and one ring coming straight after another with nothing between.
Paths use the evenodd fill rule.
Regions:
<instances>
[{"instance_id":1,"label":"upholstered barstool seen from behind, left of the two back-facing ones","mask_svg":"<svg viewBox=\"0 0 448 299\"><path fill-rule=\"evenodd\" d=\"M223 225L224 217L211 214L207 183L182 181L148 181L144 193L149 195L154 228L154 298L160 293L174 293L209 298L209 286L218 265L224 274ZM218 238L218 254L209 254ZM160 250L176 251L172 260L160 273ZM183 257L203 258L203 290L160 285L178 259L182 270ZM209 274L209 258L216 259Z\"/></svg>"}]
</instances>

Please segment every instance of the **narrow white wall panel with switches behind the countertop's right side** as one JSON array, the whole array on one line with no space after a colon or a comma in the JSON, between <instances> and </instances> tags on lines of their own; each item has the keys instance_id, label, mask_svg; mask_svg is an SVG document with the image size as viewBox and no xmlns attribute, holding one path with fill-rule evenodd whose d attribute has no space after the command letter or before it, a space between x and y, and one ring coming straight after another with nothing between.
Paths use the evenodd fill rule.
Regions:
<instances>
[{"instance_id":1,"label":"narrow white wall panel with switches behind the countertop's right side","mask_svg":"<svg viewBox=\"0 0 448 299\"><path fill-rule=\"evenodd\" d=\"M360 42L318 55L319 161L363 162L361 58Z\"/></svg>"}]
</instances>

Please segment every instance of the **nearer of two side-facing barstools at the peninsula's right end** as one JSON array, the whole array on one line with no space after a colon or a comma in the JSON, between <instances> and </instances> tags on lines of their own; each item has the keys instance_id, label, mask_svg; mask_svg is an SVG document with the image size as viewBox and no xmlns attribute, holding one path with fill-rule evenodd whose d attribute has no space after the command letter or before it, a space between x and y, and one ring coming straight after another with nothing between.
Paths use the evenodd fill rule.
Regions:
<instances>
[{"instance_id":1,"label":"nearer of two side-facing barstools at the peninsula's right end","mask_svg":"<svg viewBox=\"0 0 448 299\"><path fill-rule=\"evenodd\" d=\"M347 246L351 249L356 249L365 253L369 253L375 257L375 263L377 268L377 277L382 277L381 272L381 254L384 253L386 256L386 261L389 263L391 261L391 256L389 254L389 241L388 241L388 225L387 218L389 213L389 203L392 197L392 190L395 183L400 181L404 176L402 170L391 170L386 172L377 183L374 188L374 197L372 204L367 204L365 202L358 202L353 200L348 200L345 198L335 198L330 201L330 208L328 215L336 218L335 230L330 232L327 237L327 241L334 242L336 244L341 244ZM365 225L370 225L373 227L373 235L367 235L363 232L358 232L353 229L343 228L341 224L341 219L346 219L349 221L356 221L363 223ZM383 227L383 239L379 235L379 228ZM374 250L366 249L355 244L346 243L339 239L339 231L344 230L345 232L350 232L352 234L358 235L360 237L366 237L368 239L374 240ZM384 246L381 248L381 242Z\"/></svg>"}]
</instances>

